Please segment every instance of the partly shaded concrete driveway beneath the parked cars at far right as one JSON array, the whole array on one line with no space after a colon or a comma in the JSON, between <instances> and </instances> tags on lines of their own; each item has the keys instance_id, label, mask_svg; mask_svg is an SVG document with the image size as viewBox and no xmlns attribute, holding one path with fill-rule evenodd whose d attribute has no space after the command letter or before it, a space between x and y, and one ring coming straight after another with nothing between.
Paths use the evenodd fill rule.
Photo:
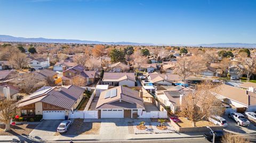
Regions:
<instances>
[{"instance_id":1,"label":"partly shaded concrete driveway beneath the parked cars at far right","mask_svg":"<svg viewBox=\"0 0 256 143\"><path fill-rule=\"evenodd\" d=\"M253 125L252 123L250 124L249 127L242 127L242 126L237 125L237 123L233 119L230 119L227 115L225 115L223 117L228 122L228 127L224 128L224 130L227 131L227 132L232 132L232 133L256 133L256 126Z\"/></svg>"}]
</instances>

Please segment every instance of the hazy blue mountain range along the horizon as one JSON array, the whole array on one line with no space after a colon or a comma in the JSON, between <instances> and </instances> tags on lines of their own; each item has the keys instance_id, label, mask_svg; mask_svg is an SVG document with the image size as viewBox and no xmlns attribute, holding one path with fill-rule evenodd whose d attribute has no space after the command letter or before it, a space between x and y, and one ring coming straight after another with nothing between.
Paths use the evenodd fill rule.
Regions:
<instances>
[{"instance_id":1,"label":"hazy blue mountain range along the horizon","mask_svg":"<svg viewBox=\"0 0 256 143\"><path fill-rule=\"evenodd\" d=\"M24 42L24 43L77 43L77 44L107 44L107 45L138 45L138 46L202 46L202 47L236 47L236 48L256 48L256 44L246 43L217 43L199 45L175 45L175 44L152 44L152 43L133 43L133 42L102 42L76 39L47 39L47 38L23 38L9 35L0 35L0 41Z\"/></svg>"}]
</instances>

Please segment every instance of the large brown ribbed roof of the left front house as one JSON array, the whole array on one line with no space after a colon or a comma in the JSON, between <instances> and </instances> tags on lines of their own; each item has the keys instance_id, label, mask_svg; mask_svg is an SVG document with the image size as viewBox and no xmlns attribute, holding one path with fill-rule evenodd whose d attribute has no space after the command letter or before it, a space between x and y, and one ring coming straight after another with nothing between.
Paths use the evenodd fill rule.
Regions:
<instances>
[{"instance_id":1,"label":"large brown ribbed roof of the left front house","mask_svg":"<svg viewBox=\"0 0 256 143\"><path fill-rule=\"evenodd\" d=\"M71 110L71 108L76 104L78 98L83 94L84 90L84 88L74 85L60 88L52 87L50 89L35 92L34 94L22 99L18 107L36 102L44 102Z\"/></svg>"}]
</instances>

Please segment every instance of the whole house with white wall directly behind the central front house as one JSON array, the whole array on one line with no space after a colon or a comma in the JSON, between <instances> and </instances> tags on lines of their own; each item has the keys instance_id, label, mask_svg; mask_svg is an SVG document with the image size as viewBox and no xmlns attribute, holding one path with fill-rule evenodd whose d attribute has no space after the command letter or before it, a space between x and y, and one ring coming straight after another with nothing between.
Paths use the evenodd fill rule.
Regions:
<instances>
[{"instance_id":1,"label":"whole house with white wall directly behind the central front house","mask_svg":"<svg viewBox=\"0 0 256 143\"><path fill-rule=\"evenodd\" d=\"M103 85L109 86L135 86L135 75L134 73L125 72L105 72L102 78Z\"/></svg>"}]
</instances>

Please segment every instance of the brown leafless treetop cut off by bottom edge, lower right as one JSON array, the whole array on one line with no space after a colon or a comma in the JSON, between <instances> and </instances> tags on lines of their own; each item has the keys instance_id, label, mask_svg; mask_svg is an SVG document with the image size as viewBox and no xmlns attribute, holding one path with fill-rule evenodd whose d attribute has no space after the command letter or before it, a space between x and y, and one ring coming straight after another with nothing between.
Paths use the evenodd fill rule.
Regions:
<instances>
[{"instance_id":1,"label":"brown leafless treetop cut off by bottom edge, lower right","mask_svg":"<svg viewBox=\"0 0 256 143\"><path fill-rule=\"evenodd\" d=\"M249 143L249 140L244 139L242 136L233 135L231 133L226 132L225 135L221 138L222 143Z\"/></svg>"}]
</instances>

